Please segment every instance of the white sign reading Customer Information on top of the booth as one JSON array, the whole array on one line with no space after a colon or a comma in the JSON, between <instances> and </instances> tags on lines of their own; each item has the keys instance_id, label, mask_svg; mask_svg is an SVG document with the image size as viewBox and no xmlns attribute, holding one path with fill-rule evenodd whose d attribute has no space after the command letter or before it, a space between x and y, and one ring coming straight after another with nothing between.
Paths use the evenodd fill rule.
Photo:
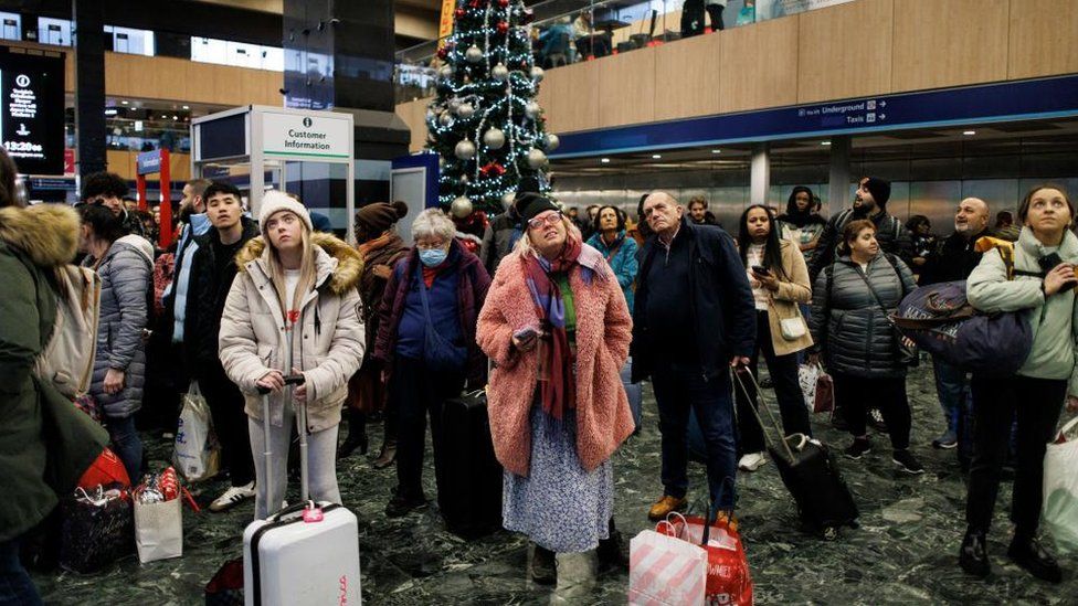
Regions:
<instances>
[{"instance_id":1,"label":"white sign reading Customer Information on top of the booth","mask_svg":"<svg viewBox=\"0 0 1078 606\"><path fill-rule=\"evenodd\" d=\"M262 152L296 160L351 161L351 120L327 113L262 113Z\"/></svg>"}]
</instances>

